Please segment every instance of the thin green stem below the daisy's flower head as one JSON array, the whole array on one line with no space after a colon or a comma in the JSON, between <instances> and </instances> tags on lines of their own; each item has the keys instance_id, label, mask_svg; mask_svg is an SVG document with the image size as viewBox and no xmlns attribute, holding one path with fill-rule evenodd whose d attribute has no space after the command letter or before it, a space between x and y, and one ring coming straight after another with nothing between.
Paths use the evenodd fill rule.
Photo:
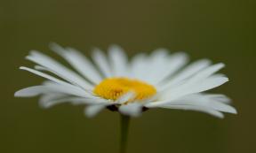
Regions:
<instances>
[{"instance_id":1,"label":"thin green stem below the daisy's flower head","mask_svg":"<svg viewBox=\"0 0 256 153\"><path fill-rule=\"evenodd\" d=\"M122 115L120 116L121 134L120 134L120 153L126 152L128 131L129 131L130 117Z\"/></svg>"}]
</instances>

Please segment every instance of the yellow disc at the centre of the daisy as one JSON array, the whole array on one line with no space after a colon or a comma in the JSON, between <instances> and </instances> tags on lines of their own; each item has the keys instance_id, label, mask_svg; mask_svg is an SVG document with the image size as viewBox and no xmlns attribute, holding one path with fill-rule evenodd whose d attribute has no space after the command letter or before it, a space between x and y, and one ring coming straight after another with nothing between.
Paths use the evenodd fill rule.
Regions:
<instances>
[{"instance_id":1,"label":"yellow disc at the centre of the daisy","mask_svg":"<svg viewBox=\"0 0 256 153\"><path fill-rule=\"evenodd\" d=\"M128 78L108 78L98 84L93 93L105 99L116 100L128 92L134 92L132 100L143 100L156 95L156 88L140 80Z\"/></svg>"}]
</instances>

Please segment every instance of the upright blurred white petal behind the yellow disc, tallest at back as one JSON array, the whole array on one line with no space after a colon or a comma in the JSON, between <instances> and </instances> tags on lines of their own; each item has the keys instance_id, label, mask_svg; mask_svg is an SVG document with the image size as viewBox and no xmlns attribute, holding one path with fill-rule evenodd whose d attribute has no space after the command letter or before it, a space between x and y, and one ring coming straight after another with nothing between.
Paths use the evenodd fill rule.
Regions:
<instances>
[{"instance_id":1,"label":"upright blurred white petal behind the yellow disc, tallest at back","mask_svg":"<svg viewBox=\"0 0 256 153\"><path fill-rule=\"evenodd\" d=\"M109 55L109 62L112 67L114 76L116 77L127 76L127 73L129 73L127 72L128 59L126 54L124 53L124 50L117 45L112 45L108 49L108 55Z\"/></svg>"}]
</instances>

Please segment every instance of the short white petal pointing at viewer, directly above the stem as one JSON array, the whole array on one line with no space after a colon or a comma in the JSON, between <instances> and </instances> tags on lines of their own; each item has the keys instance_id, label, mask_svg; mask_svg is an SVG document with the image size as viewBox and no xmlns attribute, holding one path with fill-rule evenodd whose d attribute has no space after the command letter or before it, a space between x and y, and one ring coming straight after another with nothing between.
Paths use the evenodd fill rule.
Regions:
<instances>
[{"instance_id":1,"label":"short white petal pointing at viewer, directly above the stem","mask_svg":"<svg viewBox=\"0 0 256 153\"><path fill-rule=\"evenodd\" d=\"M140 103L128 103L121 105L118 111L124 115L138 117L142 112L142 105Z\"/></svg>"}]
</instances>

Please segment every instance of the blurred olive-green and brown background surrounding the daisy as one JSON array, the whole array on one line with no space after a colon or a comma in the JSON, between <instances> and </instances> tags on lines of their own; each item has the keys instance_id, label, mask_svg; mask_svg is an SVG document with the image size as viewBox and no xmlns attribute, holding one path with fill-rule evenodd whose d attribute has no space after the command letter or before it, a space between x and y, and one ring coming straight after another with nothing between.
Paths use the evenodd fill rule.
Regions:
<instances>
[{"instance_id":1,"label":"blurred olive-green and brown background surrounding the daisy","mask_svg":"<svg viewBox=\"0 0 256 153\"><path fill-rule=\"evenodd\" d=\"M49 42L89 55L121 45L129 55L165 47L192 60L224 62L230 81L214 89L232 97L238 115L215 119L194 111L152 110L132 119L128 152L256 152L255 1L253 0L5 0L0 4L0 152L118 150L119 116L84 117L82 106L49 110L13 93L41 78L18 70L29 50L56 57Z\"/></svg>"}]
</instances>

